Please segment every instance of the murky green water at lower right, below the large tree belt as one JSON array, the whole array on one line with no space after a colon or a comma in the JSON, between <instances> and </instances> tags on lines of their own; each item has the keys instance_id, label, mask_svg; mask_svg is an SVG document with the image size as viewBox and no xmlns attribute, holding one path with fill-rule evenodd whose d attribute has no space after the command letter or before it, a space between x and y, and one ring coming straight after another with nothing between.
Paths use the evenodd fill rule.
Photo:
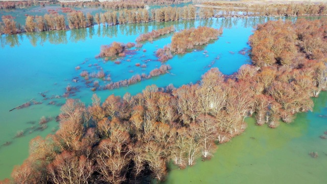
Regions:
<instances>
[{"instance_id":1,"label":"murky green water at lower right, below the large tree belt","mask_svg":"<svg viewBox=\"0 0 327 184\"><path fill-rule=\"evenodd\" d=\"M314 112L299 113L276 129L246 119L245 132L219 145L211 160L172 167L164 183L327 183L327 93L314 99ZM309 152L318 152L313 158Z\"/></svg>"}]
</instances>

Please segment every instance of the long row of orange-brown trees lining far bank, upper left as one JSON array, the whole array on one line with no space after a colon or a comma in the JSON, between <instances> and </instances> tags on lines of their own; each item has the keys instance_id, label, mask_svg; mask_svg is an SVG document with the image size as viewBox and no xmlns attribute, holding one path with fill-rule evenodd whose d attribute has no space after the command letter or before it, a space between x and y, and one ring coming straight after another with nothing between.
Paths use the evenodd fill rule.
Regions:
<instances>
[{"instance_id":1,"label":"long row of orange-brown trees lining far bank, upper left","mask_svg":"<svg viewBox=\"0 0 327 184\"><path fill-rule=\"evenodd\" d=\"M136 9L124 11L110 11L96 14L92 16L90 13L84 15L80 11L73 11L67 14L68 27L70 29L85 28L102 23L103 26L115 26L122 24L132 24L149 21L176 21L195 19L196 11L192 5L182 8L164 7L152 9L151 12L146 9ZM25 31L50 31L66 29L64 15L57 13L42 16L27 16ZM22 29L17 28L13 18L3 17L3 22L0 22L0 32L5 34L20 33Z\"/></svg>"}]
</instances>

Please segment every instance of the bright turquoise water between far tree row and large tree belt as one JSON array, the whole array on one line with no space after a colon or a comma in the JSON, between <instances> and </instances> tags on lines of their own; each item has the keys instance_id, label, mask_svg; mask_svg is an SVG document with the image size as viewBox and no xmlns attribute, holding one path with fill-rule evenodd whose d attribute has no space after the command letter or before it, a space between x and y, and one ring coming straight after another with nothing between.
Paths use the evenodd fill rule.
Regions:
<instances>
[{"instance_id":1,"label":"bright turquoise water between far tree row and large tree belt","mask_svg":"<svg viewBox=\"0 0 327 184\"><path fill-rule=\"evenodd\" d=\"M247 40L252 34L252 26L266 21L266 18L249 19L213 19L209 21L179 21L157 24L134 24L102 28L51 31L32 34L2 35L0 49L0 179L9 177L14 165L20 165L28 156L28 144L37 135L46 136L58 129L54 120L44 130L40 129L39 120L42 116L55 117L60 113L60 105L65 102L63 94L66 86L74 87L75 94L68 98L79 98L89 104L92 94L97 93L104 100L108 95L124 95L126 92L135 95L145 86L156 84L164 87L173 84L196 83L201 75L211 67L218 67L226 75L237 72L238 68L249 63L247 55L238 54L248 48ZM134 42L135 38L152 29L175 26L176 30L190 27L210 26L223 27L224 31L218 40L212 41L201 48L196 48L183 55L174 55L165 63L157 61L154 52L170 42L172 34L160 37L153 42L144 42L143 47L133 55L114 60L96 59L101 45L113 41ZM135 49L135 48L131 48ZM143 52L143 50L146 52ZM146 68L135 66L136 63L146 64ZM114 90L97 90L93 92L86 87L85 80L79 74L86 70L98 72L101 67L112 81L125 80L135 74L149 74L155 67L169 64L174 75L161 75L141 83ZM80 70L75 70L80 66ZM131 72L133 71L133 72ZM73 79L78 79L73 82ZM99 80L101 85L106 81ZM46 100L41 96L46 96ZM60 97L60 98L55 98ZM49 99L52 98L52 99ZM42 102L23 109L10 109L28 101ZM51 102L54 101L54 102ZM54 103L54 105L49 103ZM15 138L17 131L24 135ZM228 144L226 144L228 145Z\"/></svg>"}]
</instances>

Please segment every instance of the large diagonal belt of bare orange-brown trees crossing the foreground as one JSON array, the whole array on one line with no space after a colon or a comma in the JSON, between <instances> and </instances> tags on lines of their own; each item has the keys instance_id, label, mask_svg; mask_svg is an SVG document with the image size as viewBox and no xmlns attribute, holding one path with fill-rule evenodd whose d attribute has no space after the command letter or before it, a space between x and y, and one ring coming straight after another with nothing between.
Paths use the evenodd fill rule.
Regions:
<instances>
[{"instance_id":1,"label":"large diagonal belt of bare orange-brown trees crossing the foreground","mask_svg":"<svg viewBox=\"0 0 327 184\"><path fill-rule=\"evenodd\" d=\"M88 107L68 99L60 129L31 141L13 181L123 183L150 174L164 180L169 162L184 168L210 158L216 142L244 131L245 117L255 114L258 125L272 128L291 123L327 88L326 25L326 19L259 25L249 39L253 65L233 77L211 68L194 85L151 85L103 102L94 95Z\"/></svg>"}]
</instances>

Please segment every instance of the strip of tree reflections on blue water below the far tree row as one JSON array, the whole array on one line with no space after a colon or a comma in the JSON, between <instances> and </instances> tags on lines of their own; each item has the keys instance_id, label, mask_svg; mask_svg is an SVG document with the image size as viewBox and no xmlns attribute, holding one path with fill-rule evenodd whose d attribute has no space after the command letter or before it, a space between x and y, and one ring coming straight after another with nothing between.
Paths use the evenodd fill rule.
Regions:
<instances>
[{"instance_id":1,"label":"strip of tree reflections on blue water below the far tree row","mask_svg":"<svg viewBox=\"0 0 327 184\"><path fill-rule=\"evenodd\" d=\"M0 38L1 47L6 45L9 47L16 47L20 45L20 41L28 39L31 44L36 47L37 44L43 45L44 42L49 41L51 44L66 44L68 41L78 42L84 41L87 37L92 38L97 35L99 37L117 37L121 35L137 35L141 33L149 32L149 27L157 30L164 27L174 26L176 30L183 30L199 26L207 27L222 27L224 29L231 29L232 27L242 26L245 28L254 27L258 24L263 24L268 20L276 20L280 17L234 17L234 18L213 18L206 20L181 20L171 22L149 22L140 24L126 24L117 26L95 26L94 28L85 29L73 29L68 31L46 31L39 33L25 33L17 35L2 35ZM292 21L296 20L296 17L288 18ZM69 36L67 36L69 35ZM67 38L69 37L69 38ZM69 40L68 40L69 39Z\"/></svg>"}]
</instances>

